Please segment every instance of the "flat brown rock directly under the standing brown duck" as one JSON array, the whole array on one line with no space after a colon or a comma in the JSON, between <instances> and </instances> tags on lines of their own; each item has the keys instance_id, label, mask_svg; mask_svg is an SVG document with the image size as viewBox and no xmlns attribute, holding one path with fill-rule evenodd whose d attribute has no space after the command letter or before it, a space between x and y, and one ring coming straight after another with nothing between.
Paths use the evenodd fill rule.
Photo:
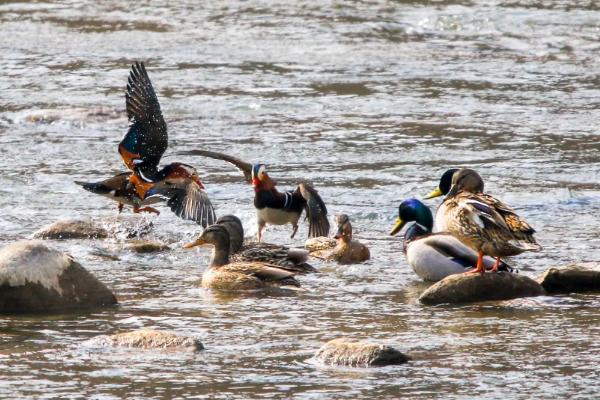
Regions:
<instances>
[{"instance_id":1,"label":"flat brown rock directly under the standing brown duck","mask_svg":"<svg viewBox=\"0 0 600 400\"><path fill-rule=\"evenodd\" d=\"M425 290L423 304L473 303L540 296L544 288L531 278L509 272L450 275Z\"/></svg>"}]
</instances>

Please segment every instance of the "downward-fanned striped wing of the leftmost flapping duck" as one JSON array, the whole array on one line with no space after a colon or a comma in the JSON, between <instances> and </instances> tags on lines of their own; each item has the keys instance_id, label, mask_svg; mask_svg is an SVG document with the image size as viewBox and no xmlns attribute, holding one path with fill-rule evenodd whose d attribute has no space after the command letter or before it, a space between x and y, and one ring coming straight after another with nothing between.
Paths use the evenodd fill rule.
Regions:
<instances>
[{"instance_id":1,"label":"downward-fanned striped wing of the leftmost flapping duck","mask_svg":"<svg viewBox=\"0 0 600 400\"><path fill-rule=\"evenodd\" d=\"M171 189L163 194L169 198L167 205L182 219L192 220L206 228L216 221L215 210L206 192L195 182L186 189Z\"/></svg>"}]
</instances>

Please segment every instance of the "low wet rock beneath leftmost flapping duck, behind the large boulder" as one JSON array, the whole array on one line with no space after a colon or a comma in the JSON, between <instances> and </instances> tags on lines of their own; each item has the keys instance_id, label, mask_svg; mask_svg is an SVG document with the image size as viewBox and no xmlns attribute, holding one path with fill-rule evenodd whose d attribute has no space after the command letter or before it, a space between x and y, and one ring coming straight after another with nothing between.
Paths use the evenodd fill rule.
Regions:
<instances>
[{"instance_id":1,"label":"low wet rock beneath leftmost flapping duck, behind the large boulder","mask_svg":"<svg viewBox=\"0 0 600 400\"><path fill-rule=\"evenodd\" d=\"M134 238L152 230L152 222L142 216L118 216L104 219L57 221L33 234L34 239L106 239Z\"/></svg>"}]
</instances>

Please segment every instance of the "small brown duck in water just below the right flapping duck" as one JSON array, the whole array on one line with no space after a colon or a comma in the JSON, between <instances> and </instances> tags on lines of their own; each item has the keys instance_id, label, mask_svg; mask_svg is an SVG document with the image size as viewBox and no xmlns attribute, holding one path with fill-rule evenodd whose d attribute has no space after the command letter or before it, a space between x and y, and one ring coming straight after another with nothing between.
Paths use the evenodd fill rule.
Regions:
<instances>
[{"instance_id":1,"label":"small brown duck in water just below the right flapping duck","mask_svg":"<svg viewBox=\"0 0 600 400\"><path fill-rule=\"evenodd\" d=\"M337 232L334 236L336 246L332 249L318 250L310 255L323 260L337 261L340 264L355 264L371 258L369 248L352 239L352 225L346 214L336 216Z\"/></svg>"}]
</instances>

